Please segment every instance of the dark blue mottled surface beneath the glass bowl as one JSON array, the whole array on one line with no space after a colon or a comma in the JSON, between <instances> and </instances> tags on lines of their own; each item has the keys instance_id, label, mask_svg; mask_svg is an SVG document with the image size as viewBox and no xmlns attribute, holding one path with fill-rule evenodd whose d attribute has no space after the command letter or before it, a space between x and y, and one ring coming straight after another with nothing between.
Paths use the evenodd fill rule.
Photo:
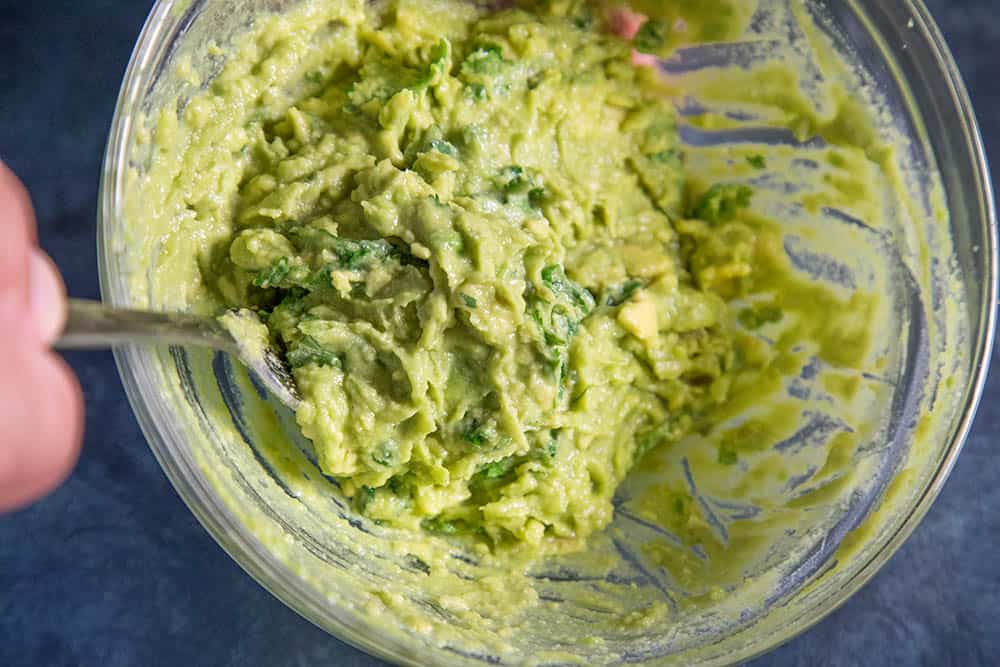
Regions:
<instances>
[{"instance_id":1,"label":"dark blue mottled surface beneath the glass bowl","mask_svg":"<svg viewBox=\"0 0 1000 667\"><path fill-rule=\"evenodd\" d=\"M97 183L141 0L0 0L0 157L38 209L70 292L97 297ZM995 0L934 0L1000 159ZM195 521L146 446L111 355L69 357L83 456L47 500L0 518L0 665L381 665L254 583ZM840 610L757 665L1000 661L1000 377L940 498Z\"/></svg>"}]
</instances>

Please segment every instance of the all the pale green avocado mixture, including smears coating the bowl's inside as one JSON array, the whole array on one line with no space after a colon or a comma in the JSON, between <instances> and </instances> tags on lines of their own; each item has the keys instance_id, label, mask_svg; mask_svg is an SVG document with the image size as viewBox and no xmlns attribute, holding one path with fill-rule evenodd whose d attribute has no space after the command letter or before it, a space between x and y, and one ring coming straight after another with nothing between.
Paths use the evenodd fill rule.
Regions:
<instances>
[{"instance_id":1,"label":"all the pale green avocado mixture, including smears coating the bowl's inside","mask_svg":"<svg viewBox=\"0 0 1000 667\"><path fill-rule=\"evenodd\" d=\"M240 531L372 642L722 650L877 478L906 329L873 239L930 218L803 2L520 6L306 0L179 48L130 305L266 324L297 425L194 351L150 353L157 388ZM633 53L718 41L740 65Z\"/></svg>"}]
</instances>

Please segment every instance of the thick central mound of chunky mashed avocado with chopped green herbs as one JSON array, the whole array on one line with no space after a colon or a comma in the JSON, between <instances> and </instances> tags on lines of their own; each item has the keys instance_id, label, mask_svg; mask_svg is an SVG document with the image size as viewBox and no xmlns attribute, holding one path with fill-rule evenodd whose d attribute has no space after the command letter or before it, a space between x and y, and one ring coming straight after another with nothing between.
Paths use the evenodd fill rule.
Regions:
<instances>
[{"instance_id":1,"label":"thick central mound of chunky mashed avocado with chopped green herbs","mask_svg":"<svg viewBox=\"0 0 1000 667\"><path fill-rule=\"evenodd\" d=\"M302 432L357 510L576 541L726 400L752 191L686 201L659 74L585 5L444 3L433 31L407 7L334 26L280 82L296 103L250 115L205 280L286 351Z\"/></svg>"}]
</instances>

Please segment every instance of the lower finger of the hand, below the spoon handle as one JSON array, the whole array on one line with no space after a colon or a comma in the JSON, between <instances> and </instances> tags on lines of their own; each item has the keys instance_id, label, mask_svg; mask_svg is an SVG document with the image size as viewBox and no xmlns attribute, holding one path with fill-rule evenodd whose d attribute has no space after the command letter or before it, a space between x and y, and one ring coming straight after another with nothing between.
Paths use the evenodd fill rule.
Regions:
<instances>
[{"instance_id":1,"label":"lower finger of the hand, below the spoon handle","mask_svg":"<svg viewBox=\"0 0 1000 667\"><path fill-rule=\"evenodd\" d=\"M79 457L83 434L80 386L66 363L34 350L10 361L14 381L0 383L0 511L58 486Z\"/></svg>"}]
</instances>

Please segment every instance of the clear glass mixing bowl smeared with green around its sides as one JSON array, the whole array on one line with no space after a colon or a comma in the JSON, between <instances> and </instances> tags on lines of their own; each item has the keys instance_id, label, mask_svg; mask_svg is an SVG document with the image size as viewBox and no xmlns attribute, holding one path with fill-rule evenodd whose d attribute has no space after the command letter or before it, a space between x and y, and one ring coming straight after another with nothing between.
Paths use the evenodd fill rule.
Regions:
<instances>
[{"instance_id":1,"label":"clear glass mixing bowl smeared with green around its sides","mask_svg":"<svg viewBox=\"0 0 1000 667\"><path fill-rule=\"evenodd\" d=\"M125 199L131 179L148 164L143 135L150 113L164 100L185 94L184 84L169 75L173 66L186 54L204 50L209 40L225 44L245 30L256 13L293 4L159 0L154 6L125 75L101 184L100 270L106 301L121 306L149 303L144 287L149 276L137 282L126 266L134 248L124 240L130 225ZM872 472L842 502L819 508L822 516L816 516L811 530L788 536L789 544L799 547L787 551L794 551L794 559L771 559L732 592L731 598L742 605L740 613L723 622L721 612L710 604L707 611L654 620L641 636L616 634L613 623L594 630L596 617L588 616L577 595L584 573L574 569L572 560L556 559L542 567L544 572L536 571L550 604L530 613L520 625L522 634L506 639L520 645L519 653L492 652L488 643L470 650L438 645L419 634L388 632L385 621L373 621L360 608L359 590L401 586L405 595L422 599L419 584L407 578L413 567L393 562L388 550L377 558L370 557L371 551L359 557L352 541L377 543L383 533L353 516L335 492L319 512L289 514L282 509L287 498L280 473L247 428L248 420L255 418L249 414L252 401L241 396L244 385L234 381L228 362L179 349L117 351L129 401L153 452L219 544L275 596L320 627L375 655L413 665L513 663L528 659L546 643L559 642L594 664L735 662L786 641L862 586L923 517L968 432L993 337L995 220L969 100L923 4L869 0L807 5L820 17L818 24L837 50L860 64L902 128L907 149L899 159L911 173L923 174L925 184L940 187L953 244L933 241L933 205L915 193L926 205L926 219L918 215L909 224L931 230L923 237L927 261L920 263L928 270L922 276L911 272L908 260L914 249L906 247L905 239L888 253L895 259L887 261L899 263L891 289L902 329L898 340L886 343L897 363L888 382L889 400L873 408L882 411L884 428L864 459ZM678 69L705 56L711 61L718 53L689 52ZM203 63L204 78L210 78L218 64L217 58ZM696 134L688 140L697 143ZM945 274L957 276L957 281L947 282ZM940 327L932 335L934 322ZM929 426L920 418L932 409L936 419ZM216 428L220 419L235 430ZM226 435L231 432L239 437ZM915 446L918 440L922 444ZM612 542L624 546L609 553L617 559L614 568L624 574L605 576L601 595L627 600L658 587L668 595L660 574L633 562L629 545L642 539L642 526L629 523L627 508L619 510L609 531L617 535ZM343 530L326 532L328 519L343 524ZM353 537L350 531L356 531ZM423 602L428 615L447 617L433 600ZM577 621L567 620L572 618ZM581 641L601 633L605 641Z\"/></svg>"}]
</instances>

